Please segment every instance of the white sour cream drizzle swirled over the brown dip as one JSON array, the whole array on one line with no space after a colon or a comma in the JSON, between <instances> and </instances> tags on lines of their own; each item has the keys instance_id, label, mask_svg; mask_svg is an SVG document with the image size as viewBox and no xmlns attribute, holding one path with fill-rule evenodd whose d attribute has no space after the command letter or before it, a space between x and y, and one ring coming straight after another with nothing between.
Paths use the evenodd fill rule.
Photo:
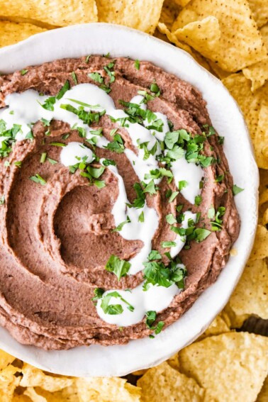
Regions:
<instances>
[{"instance_id":1,"label":"white sour cream drizzle swirled over the brown dip","mask_svg":"<svg viewBox=\"0 0 268 402\"><path fill-rule=\"evenodd\" d=\"M3 119L6 122L7 130L12 128L13 124L21 125L21 130L19 130L16 134L17 141L26 139L26 136L28 135L33 123L36 123L41 118L48 121L54 119L69 123L71 128L79 127L84 129L86 138L89 139L94 137L96 134L92 133L94 130L93 128L90 128L89 125L84 124L76 114L60 107L61 104L70 104L77 108L77 103L71 99L94 106L85 106L85 111L105 110L107 115L115 119L128 117L125 111L115 107L111 96L106 94L105 91L94 84L79 84L74 86L72 89L69 89L69 91L62 96L62 99L55 103L54 111L45 110L45 108L40 106L40 104L44 104L45 100L48 98L49 96L40 96L37 91L32 89L28 89L21 94L13 93L6 96L5 101L9 108L5 108L3 111L0 111L0 119ZM143 100L143 96L138 95L134 96L130 102L138 104L140 108L146 110L147 105L143 103ZM150 123L147 120L143 121L143 125L130 122L127 123L127 126L124 125L125 130L128 131L128 134L130 135L130 138L135 146L138 146L140 143L147 143L147 149L149 151L152 149L152 147L156 146L155 155L150 155L147 160L144 159L145 150L143 150L143 148L138 147L138 154L132 150L125 149L125 155L133 165L135 173L137 174L138 178L145 183L149 181L145 179L145 174L159 166L156 156L160 155L162 152L160 141L164 140L165 133L169 131L167 116L164 116L164 114L160 112L156 112L155 115L163 123L162 132L148 128ZM118 124L120 125L120 121ZM7 137L0 137L0 143L2 143L3 140L7 140ZM103 136L97 136L96 145L98 147L106 147L107 144L108 140L106 140L106 138ZM77 162L79 162L79 158L84 158L86 163L90 163L94 160L91 150L81 143L72 142L66 147L62 148L60 160L65 166L73 166L74 164L77 164ZM127 219L127 216L130 218L130 223L127 223L123 226L120 235L126 240L141 240L143 242L142 250L140 250L138 255L130 259L131 268L128 274L135 274L143 269L143 262L145 262L151 251L152 238L157 230L159 219L156 211L152 208L149 208L145 202L145 206L143 208L145 222L139 222L138 218L141 210L128 208L126 206L126 203L129 201L125 193L123 179L121 175L118 174L117 168L114 166L108 166L108 169L111 170L118 180L119 194L112 210L115 224L119 225ZM201 167L196 166L196 164L193 163L188 163L185 157L182 157L181 159L172 162L172 173L177 186L179 181L186 180L188 185L182 189L182 194L185 199L191 203L194 203L195 197L200 192L199 182L203 176ZM155 180L155 184L159 182L160 179L158 179L158 181ZM188 211L184 214L184 216L182 227L188 228L189 218L195 221L196 214ZM177 235L175 240L176 245L170 249L170 255L172 257L175 257L179 251L182 250L184 241L185 239ZM123 307L123 313L118 315L109 315L104 313L103 309L101 308L101 299L97 302L96 310L99 316L107 323L121 326L133 325L140 322L140 320L142 320L145 316L146 311L161 311L162 309L166 308L169 303L171 303L172 298L180 292L175 284L169 286L168 288L165 288L164 286L150 285L150 288L147 291L143 291L143 284L140 284L132 291L122 291L117 289L115 291L123 296L128 303L133 305L134 311L129 311L128 308L126 308L125 303L119 298L111 298L110 304L121 304ZM111 291L106 291L104 296L109 293L111 293Z\"/></svg>"}]
</instances>

